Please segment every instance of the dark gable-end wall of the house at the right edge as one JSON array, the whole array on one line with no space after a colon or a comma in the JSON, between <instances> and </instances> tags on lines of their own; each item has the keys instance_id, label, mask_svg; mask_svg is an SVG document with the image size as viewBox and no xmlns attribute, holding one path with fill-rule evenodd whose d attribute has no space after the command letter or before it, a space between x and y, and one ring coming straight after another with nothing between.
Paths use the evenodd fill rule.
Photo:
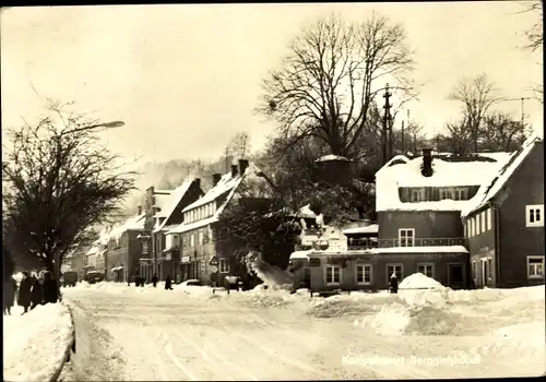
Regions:
<instances>
[{"instance_id":1,"label":"dark gable-end wall of the house at the right edge","mask_svg":"<svg viewBox=\"0 0 546 382\"><path fill-rule=\"evenodd\" d=\"M544 226L526 227L525 205L544 204L544 143L536 144L498 195L500 287L544 284L527 278L527 255L544 255ZM543 217L544 218L544 217Z\"/></svg>"}]
</instances>

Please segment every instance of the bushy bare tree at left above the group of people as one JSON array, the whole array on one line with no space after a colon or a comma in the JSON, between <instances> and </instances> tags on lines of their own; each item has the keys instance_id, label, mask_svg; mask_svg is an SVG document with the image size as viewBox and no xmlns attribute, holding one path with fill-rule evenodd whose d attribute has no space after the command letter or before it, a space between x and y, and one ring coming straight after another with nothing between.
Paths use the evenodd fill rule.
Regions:
<instances>
[{"instance_id":1,"label":"bushy bare tree at left above the group of people","mask_svg":"<svg viewBox=\"0 0 546 382\"><path fill-rule=\"evenodd\" d=\"M133 172L100 145L99 123L51 103L36 124L10 129L2 175L5 236L12 253L39 260L50 272L90 227L118 212ZM56 264L58 266L56 266Z\"/></svg>"}]
</instances>

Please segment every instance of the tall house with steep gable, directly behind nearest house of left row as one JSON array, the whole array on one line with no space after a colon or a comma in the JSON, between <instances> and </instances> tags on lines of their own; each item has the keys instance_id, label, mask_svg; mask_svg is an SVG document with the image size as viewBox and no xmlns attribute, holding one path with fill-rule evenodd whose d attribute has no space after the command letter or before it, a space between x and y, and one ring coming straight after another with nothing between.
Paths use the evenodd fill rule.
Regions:
<instances>
[{"instance_id":1,"label":"tall house with steep gable, directly behind nearest house of left row","mask_svg":"<svg viewBox=\"0 0 546 382\"><path fill-rule=\"evenodd\" d=\"M179 252L167 246L165 234L183 222L183 208L203 195L201 180L182 182L175 190L157 190L150 187L145 195L144 230L139 236L142 255L140 275L147 280L154 274L161 280L170 276L180 279Z\"/></svg>"}]
</instances>

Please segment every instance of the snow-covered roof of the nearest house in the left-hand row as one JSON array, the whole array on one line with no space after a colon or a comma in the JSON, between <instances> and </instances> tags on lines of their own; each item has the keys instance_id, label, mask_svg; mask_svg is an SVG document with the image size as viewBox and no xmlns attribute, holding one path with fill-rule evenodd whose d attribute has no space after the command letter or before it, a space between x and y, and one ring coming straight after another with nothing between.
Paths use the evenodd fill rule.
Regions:
<instances>
[{"instance_id":1,"label":"snow-covered roof of the nearest house in the left-hand row","mask_svg":"<svg viewBox=\"0 0 546 382\"><path fill-rule=\"evenodd\" d=\"M219 181L210 189L201 199L197 200L192 204L188 205L182 212L188 212L194 210L197 207L203 206L207 203L214 202L219 199L222 195L226 195L226 199L223 201L222 205L216 207L216 212L213 216L192 222L192 223L182 223L175 229L169 230L167 234L182 234L189 230L197 229L199 227L207 226L209 224L216 223L219 219L219 216L224 212L225 207L233 199L237 188L240 186L244 179L252 179L259 178L263 176L263 172L252 163L250 163L245 170L245 174L239 174L234 177L232 172L224 174Z\"/></svg>"}]
</instances>

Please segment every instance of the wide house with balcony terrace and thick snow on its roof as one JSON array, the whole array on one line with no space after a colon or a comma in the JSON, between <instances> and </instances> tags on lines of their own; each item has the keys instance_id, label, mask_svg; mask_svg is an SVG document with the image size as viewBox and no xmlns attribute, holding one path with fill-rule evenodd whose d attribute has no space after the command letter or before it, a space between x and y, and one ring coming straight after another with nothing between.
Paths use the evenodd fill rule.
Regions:
<instances>
[{"instance_id":1,"label":"wide house with balcony terrace and thick snow on its roof","mask_svg":"<svg viewBox=\"0 0 546 382\"><path fill-rule=\"evenodd\" d=\"M384 289L420 272L452 288L471 284L461 212L479 198L510 154L396 156L376 174L378 226L345 230L346 251L298 251L293 271L308 270L311 290ZM351 239L357 242L351 242Z\"/></svg>"}]
</instances>

